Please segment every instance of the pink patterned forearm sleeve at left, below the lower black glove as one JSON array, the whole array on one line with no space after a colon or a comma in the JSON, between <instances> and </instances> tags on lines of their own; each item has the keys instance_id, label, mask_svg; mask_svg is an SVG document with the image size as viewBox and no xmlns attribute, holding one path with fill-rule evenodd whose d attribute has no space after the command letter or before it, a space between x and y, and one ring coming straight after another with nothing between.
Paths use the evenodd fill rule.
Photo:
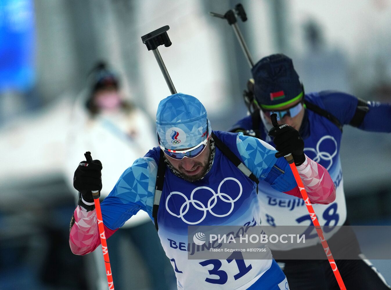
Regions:
<instances>
[{"instance_id":1,"label":"pink patterned forearm sleeve at left, below the lower black glove","mask_svg":"<svg viewBox=\"0 0 391 290\"><path fill-rule=\"evenodd\" d=\"M116 230L104 226L106 238ZM100 245L100 236L95 209L87 211L77 206L70 224L69 245L76 255L85 255L94 251Z\"/></svg>"}]
</instances>

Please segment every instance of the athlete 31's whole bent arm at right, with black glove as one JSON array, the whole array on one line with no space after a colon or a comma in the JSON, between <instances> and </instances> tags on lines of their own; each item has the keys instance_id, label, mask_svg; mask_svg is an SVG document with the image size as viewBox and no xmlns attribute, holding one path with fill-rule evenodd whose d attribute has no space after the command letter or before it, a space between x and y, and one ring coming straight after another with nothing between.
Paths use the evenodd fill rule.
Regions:
<instances>
[{"instance_id":1,"label":"athlete 31's whole bent arm at right, with black glove","mask_svg":"<svg viewBox=\"0 0 391 290\"><path fill-rule=\"evenodd\" d=\"M335 186L326 168L308 158L300 134L286 124L271 130L276 149L266 142L238 133L237 147L244 164L259 179L281 192L301 198L289 164L283 156L292 154L308 197L312 203L328 204L335 200Z\"/></svg>"}]
</instances>

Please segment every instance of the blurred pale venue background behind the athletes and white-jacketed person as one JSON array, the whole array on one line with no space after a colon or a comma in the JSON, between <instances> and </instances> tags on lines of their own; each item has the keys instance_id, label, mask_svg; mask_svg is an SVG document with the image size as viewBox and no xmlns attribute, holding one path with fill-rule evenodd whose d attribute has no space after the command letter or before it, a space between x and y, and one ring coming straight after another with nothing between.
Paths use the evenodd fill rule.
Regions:
<instances>
[{"instance_id":1,"label":"blurred pale venue background behind the athletes and white-jacketed person","mask_svg":"<svg viewBox=\"0 0 391 290\"><path fill-rule=\"evenodd\" d=\"M97 62L113 68L122 97L147 116L143 123L155 134L158 102L170 91L140 37L169 25L172 45L159 50L176 90L203 102L215 130L246 115L248 63L226 20L208 14L224 14L237 3L0 1L0 289L99 288L93 263L69 249L76 193L66 166L73 160L72 136L87 122L75 111L85 109ZM238 25L255 62L283 52L307 92L332 89L391 101L391 0L242 4L248 21ZM341 162L351 224L391 224L390 135L344 128ZM75 170L84 151L71 153ZM129 156L124 159L131 165ZM364 253L370 246L362 245ZM126 253L137 256L132 245ZM390 282L391 261L372 262ZM123 271L145 278L135 288L152 289L146 267Z\"/></svg>"}]
</instances>

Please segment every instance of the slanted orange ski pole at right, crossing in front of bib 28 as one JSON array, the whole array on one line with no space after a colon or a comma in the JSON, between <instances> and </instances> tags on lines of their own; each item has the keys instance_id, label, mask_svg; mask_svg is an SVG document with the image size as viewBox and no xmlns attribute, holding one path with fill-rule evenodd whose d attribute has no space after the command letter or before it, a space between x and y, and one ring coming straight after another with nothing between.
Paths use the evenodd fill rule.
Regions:
<instances>
[{"instance_id":1,"label":"slanted orange ski pole at right, crossing in front of bib 28","mask_svg":"<svg viewBox=\"0 0 391 290\"><path fill-rule=\"evenodd\" d=\"M271 120L272 120L272 124L274 127L278 126L277 114L273 113L271 115ZM323 231L322 231L321 226L319 224L319 220L316 217L314 208L312 207L310 199L308 198L307 191L304 188L304 185L303 185L303 182L301 181L299 172L297 171L296 165L294 164L293 156L292 156L292 154L288 154L287 156L284 156L284 157L288 161L289 166L291 166L293 176L296 180L297 185L299 186L301 196L303 197L303 200L305 201L305 205L307 206L308 213L310 214L312 224L314 224L314 227L316 229L316 233L319 236L320 242L322 243L323 250L326 253L328 262L330 263L331 269L333 270L335 279L337 279L338 286L341 290L346 290L346 287L345 287L345 284L343 283L341 274L339 273L339 270L337 268L337 264L335 263L333 255L331 254L330 247L328 247L328 243L326 241L325 235L323 235Z\"/></svg>"}]
</instances>

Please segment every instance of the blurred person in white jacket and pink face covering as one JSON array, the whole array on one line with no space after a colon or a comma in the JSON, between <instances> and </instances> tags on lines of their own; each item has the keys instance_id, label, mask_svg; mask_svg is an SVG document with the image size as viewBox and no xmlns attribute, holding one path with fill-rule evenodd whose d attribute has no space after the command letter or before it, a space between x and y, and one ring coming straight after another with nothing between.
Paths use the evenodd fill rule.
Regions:
<instances>
[{"instance_id":1,"label":"blurred person in white jacket and pink face covering","mask_svg":"<svg viewBox=\"0 0 391 290\"><path fill-rule=\"evenodd\" d=\"M129 163L157 143L152 120L124 98L120 86L117 74L101 62L93 69L88 88L77 99L66 159L67 180L73 192L74 164L84 152L93 152L104 164L104 184L100 193L104 198ZM170 289L176 284L170 262L154 231L148 214L139 211L108 240L116 289ZM102 252L94 251L93 255L95 266L100 268L100 285L107 288ZM133 261L133 269L128 266L129 260ZM155 267L160 271L153 271ZM150 283L137 284L138 275L146 276L145 281Z\"/></svg>"}]
</instances>

